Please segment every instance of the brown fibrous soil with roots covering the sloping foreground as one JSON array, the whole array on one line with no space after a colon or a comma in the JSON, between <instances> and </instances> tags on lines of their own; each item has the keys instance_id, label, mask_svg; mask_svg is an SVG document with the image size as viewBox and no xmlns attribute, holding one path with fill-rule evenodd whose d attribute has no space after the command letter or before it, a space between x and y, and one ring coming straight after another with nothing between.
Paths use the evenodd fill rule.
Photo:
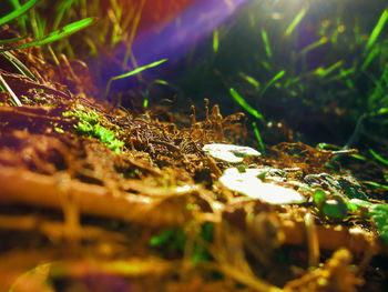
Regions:
<instances>
[{"instance_id":1,"label":"brown fibrous soil with roots covering the sloping foreground","mask_svg":"<svg viewBox=\"0 0 388 292\"><path fill-rule=\"evenodd\" d=\"M202 147L244 144L244 114L206 103L184 127L167 108L96 103L80 61L16 57L37 80L0 68L23 103L0 95L0 291L384 290L388 249L368 222L325 221L310 203L270 205L217 181L231 164ZM82 132L63 114L75 111L124 145ZM327 172L335 155L302 143L267 151L243 164L298 168L289 181Z\"/></svg>"}]
</instances>

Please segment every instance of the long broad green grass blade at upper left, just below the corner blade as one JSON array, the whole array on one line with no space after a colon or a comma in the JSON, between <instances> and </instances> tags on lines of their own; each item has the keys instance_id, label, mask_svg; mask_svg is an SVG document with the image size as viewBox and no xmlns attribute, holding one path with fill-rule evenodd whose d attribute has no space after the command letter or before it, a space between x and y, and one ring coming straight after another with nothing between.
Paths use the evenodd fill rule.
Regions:
<instances>
[{"instance_id":1,"label":"long broad green grass blade at upper left, just below the corner blade","mask_svg":"<svg viewBox=\"0 0 388 292\"><path fill-rule=\"evenodd\" d=\"M14 46L11 48L3 48L0 50L0 52L3 51L9 51L9 50L14 50L14 49L24 49L24 48L29 48L29 47L37 47L37 46L42 46L42 44L47 44L47 43L51 43L64 38L68 38L69 36L93 24L95 21L95 18L85 18L75 22L72 22L59 30L55 30L51 33L49 33L47 37L35 40L35 41L31 41L28 43L23 43L20 46Z\"/></svg>"}]
</instances>

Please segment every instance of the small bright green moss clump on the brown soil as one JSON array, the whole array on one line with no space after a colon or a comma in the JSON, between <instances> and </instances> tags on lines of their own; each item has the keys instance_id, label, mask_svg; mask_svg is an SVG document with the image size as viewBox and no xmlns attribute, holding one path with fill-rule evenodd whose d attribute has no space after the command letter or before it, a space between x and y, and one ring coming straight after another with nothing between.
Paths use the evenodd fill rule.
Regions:
<instances>
[{"instance_id":1,"label":"small bright green moss clump on the brown soil","mask_svg":"<svg viewBox=\"0 0 388 292\"><path fill-rule=\"evenodd\" d=\"M84 107L79 104L75 110L63 112L63 117L79 119L74 128L80 134L98 138L115 153L119 154L121 152L124 142L116 139L114 131L101 125L102 117L98 112L93 110L86 111Z\"/></svg>"}]
</instances>

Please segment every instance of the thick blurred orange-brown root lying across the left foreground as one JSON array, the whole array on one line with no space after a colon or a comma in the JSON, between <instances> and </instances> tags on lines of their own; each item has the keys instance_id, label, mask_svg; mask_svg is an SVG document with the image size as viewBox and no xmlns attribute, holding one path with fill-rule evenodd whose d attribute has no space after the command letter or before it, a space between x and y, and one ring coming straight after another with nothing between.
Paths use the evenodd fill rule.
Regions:
<instances>
[{"instance_id":1,"label":"thick blurred orange-brown root lying across the left foreground","mask_svg":"<svg viewBox=\"0 0 388 292\"><path fill-rule=\"evenodd\" d=\"M65 198L78 204L82 214L101 215L150 226L178 225L192 218L185 208L184 192L165 198L150 198L109 190L70 180L68 175L49 177L14 168L0 167L0 203L63 209Z\"/></svg>"}]
</instances>

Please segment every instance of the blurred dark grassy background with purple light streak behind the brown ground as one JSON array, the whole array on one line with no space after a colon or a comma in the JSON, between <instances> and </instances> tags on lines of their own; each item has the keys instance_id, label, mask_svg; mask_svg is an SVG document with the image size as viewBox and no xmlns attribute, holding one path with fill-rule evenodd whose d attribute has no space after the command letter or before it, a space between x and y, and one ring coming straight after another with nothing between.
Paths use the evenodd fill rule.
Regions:
<instances>
[{"instance_id":1,"label":"blurred dark grassy background with purple light streak behind the brown ground","mask_svg":"<svg viewBox=\"0 0 388 292\"><path fill-rule=\"evenodd\" d=\"M1 14L28 1L4 2ZM226 16L223 7L235 10ZM207 22L200 22L207 30L187 29L212 13L225 17L211 31ZM388 147L386 0L42 0L9 24L40 39L88 17L98 21L50 49L86 61L101 97L113 75L169 58L115 82L113 94L120 91L127 107L135 97L174 99L186 112L208 99L224 115L245 111L248 128L257 122L267 143L326 142L379 153ZM171 50L166 31L180 36ZM292 134L269 138L276 127Z\"/></svg>"}]
</instances>

